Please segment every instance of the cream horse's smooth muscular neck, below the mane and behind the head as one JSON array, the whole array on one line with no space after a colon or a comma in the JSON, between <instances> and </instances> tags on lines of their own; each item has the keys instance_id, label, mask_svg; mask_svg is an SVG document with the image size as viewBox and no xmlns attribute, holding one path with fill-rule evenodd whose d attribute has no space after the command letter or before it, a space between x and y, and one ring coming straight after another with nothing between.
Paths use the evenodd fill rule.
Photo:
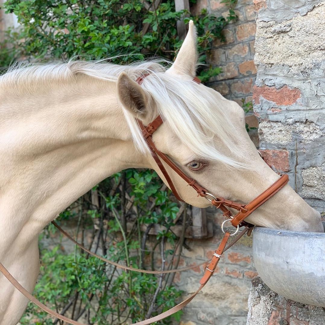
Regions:
<instances>
[{"instance_id":1,"label":"cream horse's smooth muscular neck, below the mane and behind the head","mask_svg":"<svg viewBox=\"0 0 325 325\"><path fill-rule=\"evenodd\" d=\"M79 76L6 96L0 89L0 121L0 246L35 236L104 178L147 167L115 83Z\"/></svg>"}]
</instances>

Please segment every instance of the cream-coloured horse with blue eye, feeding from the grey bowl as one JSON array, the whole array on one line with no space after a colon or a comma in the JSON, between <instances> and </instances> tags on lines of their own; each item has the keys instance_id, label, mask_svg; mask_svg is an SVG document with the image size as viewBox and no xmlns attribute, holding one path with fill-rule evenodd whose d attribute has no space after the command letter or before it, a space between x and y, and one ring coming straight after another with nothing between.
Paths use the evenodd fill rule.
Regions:
<instances>
[{"instance_id":1,"label":"cream-coloured horse with blue eye, feeding from the grey bowl","mask_svg":"<svg viewBox=\"0 0 325 325\"><path fill-rule=\"evenodd\" d=\"M126 168L154 169L166 183L138 120L148 125L161 115L156 148L210 193L247 202L279 178L251 142L242 108L193 82L196 64L191 21L169 67L69 61L0 77L0 261L29 292L39 273L38 234L78 197ZM184 201L209 206L166 169ZM323 232L320 214L289 185L247 221ZM0 288L0 324L15 325L28 300L2 275Z\"/></svg>"}]
</instances>

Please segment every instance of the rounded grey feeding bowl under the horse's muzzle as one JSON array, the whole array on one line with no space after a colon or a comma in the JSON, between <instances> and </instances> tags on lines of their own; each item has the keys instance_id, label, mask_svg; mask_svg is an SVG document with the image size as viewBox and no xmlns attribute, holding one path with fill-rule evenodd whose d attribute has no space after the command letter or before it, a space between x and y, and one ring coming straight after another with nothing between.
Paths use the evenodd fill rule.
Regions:
<instances>
[{"instance_id":1,"label":"rounded grey feeding bowl under the horse's muzzle","mask_svg":"<svg viewBox=\"0 0 325 325\"><path fill-rule=\"evenodd\" d=\"M325 307L325 233L255 227L253 259L270 289L303 304Z\"/></svg>"}]
</instances>

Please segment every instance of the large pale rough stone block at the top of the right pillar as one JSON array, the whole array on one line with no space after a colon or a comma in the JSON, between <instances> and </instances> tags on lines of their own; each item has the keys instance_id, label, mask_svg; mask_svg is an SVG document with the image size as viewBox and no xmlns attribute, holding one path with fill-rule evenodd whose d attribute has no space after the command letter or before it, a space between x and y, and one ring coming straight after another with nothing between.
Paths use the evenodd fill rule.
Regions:
<instances>
[{"instance_id":1,"label":"large pale rough stone block at the top of the right pillar","mask_svg":"<svg viewBox=\"0 0 325 325\"><path fill-rule=\"evenodd\" d=\"M259 18L255 64L288 65L297 73L310 71L316 62L325 60L324 16L322 2L304 17L298 15L280 23Z\"/></svg>"}]
</instances>

